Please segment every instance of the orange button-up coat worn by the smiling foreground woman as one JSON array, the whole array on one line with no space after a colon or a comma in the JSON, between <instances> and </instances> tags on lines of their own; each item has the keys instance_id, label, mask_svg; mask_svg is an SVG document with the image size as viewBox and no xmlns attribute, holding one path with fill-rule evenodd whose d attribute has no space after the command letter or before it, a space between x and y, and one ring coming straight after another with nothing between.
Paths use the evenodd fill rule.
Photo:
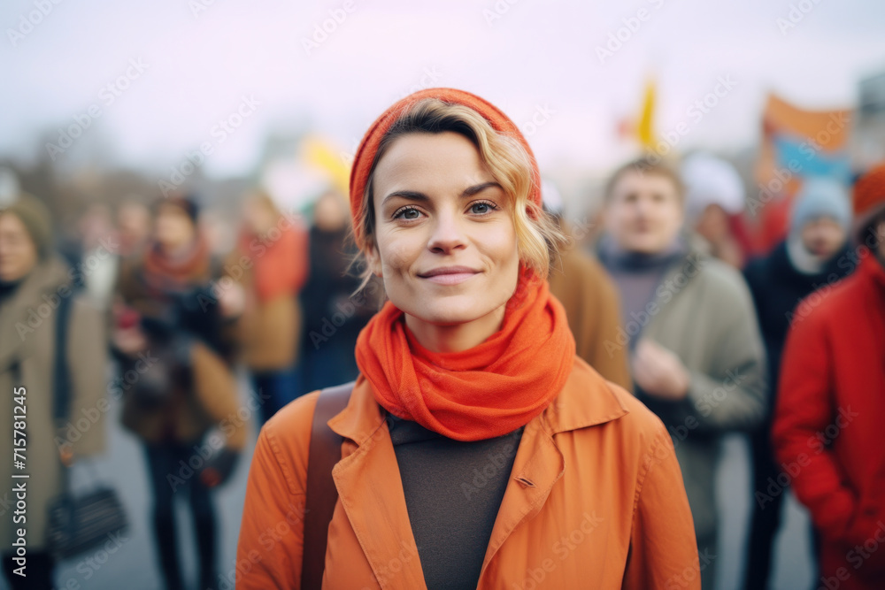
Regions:
<instances>
[{"instance_id":1,"label":"orange button-up coat worn by the smiling foreground woman","mask_svg":"<svg viewBox=\"0 0 885 590\"><path fill-rule=\"evenodd\" d=\"M317 394L269 420L249 474L236 587L298 588L307 449ZM383 410L362 376L329 421L333 476L323 588L425 588ZM453 563L452 567L458 567ZM478 588L700 588L673 443L650 410L577 356L556 401L526 425Z\"/></svg>"}]
</instances>

